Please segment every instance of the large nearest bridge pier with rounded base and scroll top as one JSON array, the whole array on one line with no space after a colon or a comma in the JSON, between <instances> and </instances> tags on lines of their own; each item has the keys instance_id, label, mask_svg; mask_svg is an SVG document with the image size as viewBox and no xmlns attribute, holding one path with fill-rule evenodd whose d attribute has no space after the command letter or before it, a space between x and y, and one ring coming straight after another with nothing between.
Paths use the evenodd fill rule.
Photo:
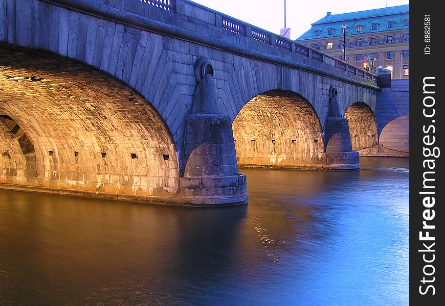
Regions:
<instances>
[{"instance_id":1,"label":"large nearest bridge pier with rounded base and scroll top","mask_svg":"<svg viewBox=\"0 0 445 306\"><path fill-rule=\"evenodd\" d=\"M238 172L232 120L219 111L213 68L204 58L195 64L195 79L192 111L186 118L182 196L196 205L244 203L246 175Z\"/></svg>"}]
</instances>

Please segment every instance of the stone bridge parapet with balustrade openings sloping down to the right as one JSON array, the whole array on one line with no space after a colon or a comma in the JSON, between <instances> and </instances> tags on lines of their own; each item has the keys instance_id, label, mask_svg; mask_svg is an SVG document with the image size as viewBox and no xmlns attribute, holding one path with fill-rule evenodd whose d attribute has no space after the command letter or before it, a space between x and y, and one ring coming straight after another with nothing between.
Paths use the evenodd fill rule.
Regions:
<instances>
[{"instance_id":1,"label":"stone bridge parapet with balustrade openings sloping down to the right","mask_svg":"<svg viewBox=\"0 0 445 306\"><path fill-rule=\"evenodd\" d=\"M167 32L174 37L216 46L232 53L247 55L260 60L327 75L355 85L378 89L376 74L188 0L94 1L123 11L119 13L118 11L108 10L105 13L113 15L115 18L127 19L127 22L130 23L134 19L128 13L170 25L170 27L160 29L159 24L145 23L149 27L151 25L151 28L158 28L160 32L163 30L163 34ZM72 0L56 0L56 2L84 10L88 9L86 2L82 5ZM100 7L94 6L90 6L89 9L101 10ZM104 15L103 8L100 13L100 15ZM177 29L174 27L177 27ZM192 31L192 33L189 33L189 31Z\"/></svg>"}]
</instances>

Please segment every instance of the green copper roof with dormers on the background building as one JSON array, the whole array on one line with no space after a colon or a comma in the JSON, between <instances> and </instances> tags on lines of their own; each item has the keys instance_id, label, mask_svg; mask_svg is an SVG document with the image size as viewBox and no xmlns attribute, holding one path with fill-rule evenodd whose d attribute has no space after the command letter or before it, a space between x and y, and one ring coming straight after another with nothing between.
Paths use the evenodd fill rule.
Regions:
<instances>
[{"instance_id":1,"label":"green copper roof with dormers on the background building","mask_svg":"<svg viewBox=\"0 0 445 306\"><path fill-rule=\"evenodd\" d=\"M404 20L409 19L409 4L399 5L389 8L373 9L360 12L331 15L312 23L312 27L296 40L321 39L329 37L343 36L342 24L347 24L346 36L355 34L369 34L383 31L396 31L409 29L409 25L404 25ZM388 29L388 22L394 22L393 28ZM372 30L371 24L377 23L377 29ZM362 31L357 32L358 25L362 26ZM332 34L328 30L332 29ZM319 31L319 36L315 36L315 31Z\"/></svg>"}]
</instances>

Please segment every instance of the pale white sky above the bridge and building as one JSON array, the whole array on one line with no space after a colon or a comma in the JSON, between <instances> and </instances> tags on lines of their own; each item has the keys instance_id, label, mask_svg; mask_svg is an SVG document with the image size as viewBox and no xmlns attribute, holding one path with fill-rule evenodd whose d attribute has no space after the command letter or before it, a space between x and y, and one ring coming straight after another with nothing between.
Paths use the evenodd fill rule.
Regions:
<instances>
[{"instance_id":1,"label":"pale white sky above the bridge and building","mask_svg":"<svg viewBox=\"0 0 445 306\"><path fill-rule=\"evenodd\" d=\"M194 2L273 33L279 34L280 28L284 28L284 0L195 0ZM409 4L409 1L286 0L286 27L291 28L291 38L296 39L310 29L310 23L326 16L326 12L341 14L365 11L384 8L386 4L390 7Z\"/></svg>"}]
</instances>

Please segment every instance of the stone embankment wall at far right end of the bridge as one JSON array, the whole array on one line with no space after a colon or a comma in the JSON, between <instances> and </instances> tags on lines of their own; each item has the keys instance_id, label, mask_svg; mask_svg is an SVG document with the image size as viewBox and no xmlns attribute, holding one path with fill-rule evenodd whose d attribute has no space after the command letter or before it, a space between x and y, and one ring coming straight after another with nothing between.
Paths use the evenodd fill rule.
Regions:
<instances>
[{"instance_id":1,"label":"stone embankment wall at far right end of the bridge","mask_svg":"<svg viewBox=\"0 0 445 306\"><path fill-rule=\"evenodd\" d=\"M379 143L383 156L409 156L409 79L391 80L377 93Z\"/></svg>"}]
</instances>

